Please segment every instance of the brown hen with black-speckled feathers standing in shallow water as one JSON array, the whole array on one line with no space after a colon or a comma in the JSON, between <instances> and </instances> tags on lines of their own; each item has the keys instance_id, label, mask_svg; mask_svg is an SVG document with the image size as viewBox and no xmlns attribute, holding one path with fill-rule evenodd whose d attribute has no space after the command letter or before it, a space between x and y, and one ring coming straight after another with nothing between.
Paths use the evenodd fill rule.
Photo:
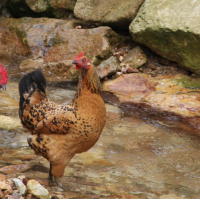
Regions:
<instances>
[{"instance_id":1,"label":"brown hen with black-speckled feathers standing in shallow water","mask_svg":"<svg viewBox=\"0 0 200 200\"><path fill-rule=\"evenodd\" d=\"M32 133L28 144L36 155L50 162L49 179L58 185L73 156L94 146L106 122L95 67L83 52L72 63L80 70L80 76L70 103L60 105L46 97L46 80L39 69L25 75L19 83L19 117Z\"/></svg>"}]
</instances>

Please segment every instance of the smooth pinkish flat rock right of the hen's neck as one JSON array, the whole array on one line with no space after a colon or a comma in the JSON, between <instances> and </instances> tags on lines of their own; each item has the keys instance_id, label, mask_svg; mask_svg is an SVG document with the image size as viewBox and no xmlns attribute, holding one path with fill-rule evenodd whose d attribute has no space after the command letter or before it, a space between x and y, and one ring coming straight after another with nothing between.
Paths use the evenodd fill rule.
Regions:
<instances>
[{"instance_id":1,"label":"smooth pinkish flat rock right of the hen's neck","mask_svg":"<svg viewBox=\"0 0 200 200\"><path fill-rule=\"evenodd\" d=\"M145 96L155 90L154 83L141 74L125 74L115 80L104 82L102 86L104 91L120 96L121 99Z\"/></svg>"}]
</instances>

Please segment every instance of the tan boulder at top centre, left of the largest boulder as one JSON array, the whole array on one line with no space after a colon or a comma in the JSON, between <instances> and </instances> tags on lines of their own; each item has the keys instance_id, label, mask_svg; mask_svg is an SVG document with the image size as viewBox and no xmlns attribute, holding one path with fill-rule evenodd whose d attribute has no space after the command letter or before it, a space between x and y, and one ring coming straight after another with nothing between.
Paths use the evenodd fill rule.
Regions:
<instances>
[{"instance_id":1,"label":"tan boulder at top centre, left of the largest boulder","mask_svg":"<svg viewBox=\"0 0 200 200\"><path fill-rule=\"evenodd\" d=\"M78 0L76 17L97 24L128 28L144 0Z\"/></svg>"}]
</instances>

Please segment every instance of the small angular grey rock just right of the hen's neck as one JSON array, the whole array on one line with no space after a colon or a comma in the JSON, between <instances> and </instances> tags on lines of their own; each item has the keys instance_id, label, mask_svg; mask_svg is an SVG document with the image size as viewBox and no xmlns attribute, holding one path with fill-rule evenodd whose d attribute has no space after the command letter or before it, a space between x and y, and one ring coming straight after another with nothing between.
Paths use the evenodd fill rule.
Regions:
<instances>
[{"instance_id":1,"label":"small angular grey rock just right of the hen's neck","mask_svg":"<svg viewBox=\"0 0 200 200\"><path fill-rule=\"evenodd\" d=\"M109 59L103 61L96 69L99 78L103 79L106 76L116 74L116 72L121 70L121 67L117 62L117 58L112 56Z\"/></svg>"}]
</instances>

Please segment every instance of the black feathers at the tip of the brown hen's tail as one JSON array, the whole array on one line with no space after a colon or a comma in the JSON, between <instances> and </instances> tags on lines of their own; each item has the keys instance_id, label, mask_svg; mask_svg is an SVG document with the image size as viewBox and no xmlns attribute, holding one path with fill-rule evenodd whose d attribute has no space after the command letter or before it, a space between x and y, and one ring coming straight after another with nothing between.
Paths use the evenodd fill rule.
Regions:
<instances>
[{"instance_id":1,"label":"black feathers at the tip of the brown hen's tail","mask_svg":"<svg viewBox=\"0 0 200 200\"><path fill-rule=\"evenodd\" d=\"M35 84L34 84L35 83ZM20 107L24 102L24 93L29 92L31 87L36 85L37 89L45 93L46 79L41 70L36 69L35 71L25 75L19 82L19 95L20 95Z\"/></svg>"}]
</instances>

